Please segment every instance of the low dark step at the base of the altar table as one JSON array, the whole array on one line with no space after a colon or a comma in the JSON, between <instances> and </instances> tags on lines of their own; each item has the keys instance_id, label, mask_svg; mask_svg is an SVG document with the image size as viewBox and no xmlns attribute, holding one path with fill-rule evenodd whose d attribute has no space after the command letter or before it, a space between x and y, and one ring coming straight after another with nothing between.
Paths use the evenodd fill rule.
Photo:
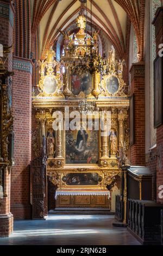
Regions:
<instances>
[{"instance_id":1,"label":"low dark step at the base of the altar table","mask_svg":"<svg viewBox=\"0 0 163 256\"><path fill-rule=\"evenodd\" d=\"M115 215L115 212L96 208L55 208L50 210L48 215Z\"/></svg>"}]
</instances>

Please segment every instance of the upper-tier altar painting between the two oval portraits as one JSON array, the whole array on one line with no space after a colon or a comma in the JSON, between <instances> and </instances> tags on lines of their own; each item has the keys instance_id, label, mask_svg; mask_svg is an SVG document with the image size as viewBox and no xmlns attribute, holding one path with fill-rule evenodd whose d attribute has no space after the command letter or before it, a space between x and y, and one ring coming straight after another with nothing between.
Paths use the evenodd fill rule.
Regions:
<instances>
[{"instance_id":1,"label":"upper-tier altar painting between the two oval portraits","mask_svg":"<svg viewBox=\"0 0 163 256\"><path fill-rule=\"evenodd\" d=\"M89 95L92 91L92 76L89 72L82 75L73 73L71 75L71 92L74 95L78 95L80 92L84 92Z\"/></svg>"}]
</instances>

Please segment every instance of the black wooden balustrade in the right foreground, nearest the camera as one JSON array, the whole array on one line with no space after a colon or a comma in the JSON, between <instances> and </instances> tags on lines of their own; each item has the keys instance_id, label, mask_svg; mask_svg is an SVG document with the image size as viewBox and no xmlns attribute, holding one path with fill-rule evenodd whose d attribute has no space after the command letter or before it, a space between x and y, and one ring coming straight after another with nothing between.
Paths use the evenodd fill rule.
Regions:
<instances>
[{"instance_id":1,"label":"black wooden balustrade in the right foreground, nearest the camera","mask_svg":"<svg viewBox=\"0 0 163 256\"><path fill-rule=\"evenodd\" d=\"M128 200L128 229L143 245L161 244L161 210L154 201Z\"/></svg>"}]
</instances>

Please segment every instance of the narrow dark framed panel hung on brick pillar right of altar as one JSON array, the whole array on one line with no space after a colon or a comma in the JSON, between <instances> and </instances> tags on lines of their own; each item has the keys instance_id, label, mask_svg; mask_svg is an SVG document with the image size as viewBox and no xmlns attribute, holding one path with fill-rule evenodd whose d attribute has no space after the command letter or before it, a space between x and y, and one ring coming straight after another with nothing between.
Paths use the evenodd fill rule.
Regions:
<instances>
[{"instance_id":1,"label":"narrow dark framed panel hung on brick pillar right of altar","mask_svg":"<svg viewBox=\"0 0 163 256\"><path fill-rule=\"evenodd\" d=\"M134 145L134 94L130 99L130 146Z\"/></svg>"}]
</instances>

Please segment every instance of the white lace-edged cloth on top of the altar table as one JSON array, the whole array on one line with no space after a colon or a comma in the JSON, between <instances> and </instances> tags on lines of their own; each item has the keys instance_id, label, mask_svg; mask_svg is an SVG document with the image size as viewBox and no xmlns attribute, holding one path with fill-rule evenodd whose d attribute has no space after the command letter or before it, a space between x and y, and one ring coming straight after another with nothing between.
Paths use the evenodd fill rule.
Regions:
<instances>
[{"instance_id":1,"label":"white lace-edged cloth on top of the altar table","mask_svg":"<svg viewBox=\"0 0 163 256\"><path fill-rule=\"evenodd\" d=\"M57 200L58 196L108 196L108 199L110 199L110 191L103 191L103 190L92 190L92 191L86 191L86 190L57 190L55 192L55 200Z\"/></svg>"}]
</instances>

